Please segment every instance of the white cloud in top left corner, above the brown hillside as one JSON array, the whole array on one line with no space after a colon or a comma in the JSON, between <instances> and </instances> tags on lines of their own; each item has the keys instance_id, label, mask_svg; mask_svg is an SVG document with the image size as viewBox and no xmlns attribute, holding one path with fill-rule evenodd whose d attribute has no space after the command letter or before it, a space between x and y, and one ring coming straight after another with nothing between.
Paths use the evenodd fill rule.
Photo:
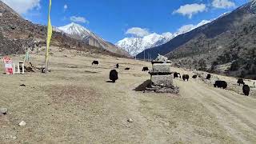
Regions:
<instances>
[{"instance_id":1,"label":"white cloud in top left corner, above the brown hillside","mask_svg":"<svg viewBox=\"0 0 256 144\"><path fill-rule=\"evenodd\" d=\"M26 14L29 10L40 9L40 0L2 0L18 14Z\"/></svg>"}]
</instances>

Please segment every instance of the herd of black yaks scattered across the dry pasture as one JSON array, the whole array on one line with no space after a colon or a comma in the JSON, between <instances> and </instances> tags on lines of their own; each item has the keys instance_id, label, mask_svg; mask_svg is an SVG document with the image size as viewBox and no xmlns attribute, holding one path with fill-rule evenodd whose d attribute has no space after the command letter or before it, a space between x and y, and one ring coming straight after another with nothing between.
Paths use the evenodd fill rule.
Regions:
<instances>
[{"instance_id":1,"label":"herd of black yaks scattered across the dry pasture","mask_svg":"<svg viewBox=\"0 0 256 144\"><path fill-rule=\"evenodd\" d=\"M94 61L92 62L92 65L97 65L98 66L98 61ZM119 64L116 64L116 68L119 68ZM125 70L130 70L129 67L127 67ZM142 68L142 71L148 71L149 68L148 67L143 67ZM183 81L189 81L189 78L190 78L190 75L189 74L179 74L177 72L174 72L174 78L182 78ZM198 78L198 75L193 75L192 78ZM210 74L207 74L206 76L206 79L210 80L211 78L211 75ZM117 70L110 70L110 80L112 82L115 82L116 80L118 80L118 71ZM238 79L238 84L239 86L242 84L242 92L243 94L245 94L246 96L249 96L250 94L250 86L246 85L245 82L243 82L243 79L242 78L239 78ZM226 89L227 87L227 82L225 81L216 81L214 83L214 87L218 87L218 88L223 88L223 89Z\"/></svg>"}]
</instances>

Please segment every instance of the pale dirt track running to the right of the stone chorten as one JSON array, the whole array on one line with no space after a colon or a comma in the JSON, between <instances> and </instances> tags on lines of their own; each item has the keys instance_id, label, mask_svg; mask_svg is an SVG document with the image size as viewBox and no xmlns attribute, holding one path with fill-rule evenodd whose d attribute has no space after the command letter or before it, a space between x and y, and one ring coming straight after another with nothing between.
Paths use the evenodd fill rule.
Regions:
<instances>
[{"instance_id":1,"label":"pale dirt track running to the right of the stone chorten","mask_svg":"<svg viewBox=\"0 0 256 144\"><path fill-rule=\"evenodd\" d=\"M226 131L239 143L256 142L256 106L254 98L233 91L209 87L202 82L178 81L181 94L202 103Z\"/></svg>"}]
</instances>

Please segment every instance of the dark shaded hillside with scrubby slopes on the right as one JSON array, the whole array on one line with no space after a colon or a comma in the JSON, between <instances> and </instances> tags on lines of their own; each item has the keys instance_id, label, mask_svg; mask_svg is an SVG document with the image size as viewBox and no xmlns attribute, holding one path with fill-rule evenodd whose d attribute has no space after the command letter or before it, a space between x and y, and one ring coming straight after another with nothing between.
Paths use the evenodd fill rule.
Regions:
<instances>
[{"instance_id":1,"label":"dark shaded hillside with scrubby slopes on the right","mask_svg":"<svg viewBox=\"0 0 256 144\"><path fill-rule=\"evenodd\" d=\"M256 1L146 50L166 55L177 66L235 77L256 78ZM138 54L142 58L143 54Z\"/></svg>"}]
</instances>

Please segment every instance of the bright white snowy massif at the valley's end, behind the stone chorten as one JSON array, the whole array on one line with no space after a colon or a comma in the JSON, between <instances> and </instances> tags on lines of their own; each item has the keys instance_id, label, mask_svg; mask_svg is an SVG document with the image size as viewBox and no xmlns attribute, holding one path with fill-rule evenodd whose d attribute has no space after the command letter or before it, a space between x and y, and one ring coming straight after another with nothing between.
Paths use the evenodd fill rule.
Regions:
<instances>
[{"instance_id":1,"label":"bright white snowy massif at the valley's end, behind the stone chorten","mask_svg":"<svg viewBox=\"0 0 256 144\"><path fill-rule=\"evenodd\" d=\"M174 35L170 33L166 34L149 34L145 37L138 38L138 37L131 37L131 38L124 38L116 43L116 46L126 50L130 55L135 56L141 53L143 50L148 49L150 47L162 45Z\"/></svg>"}]
</instances>

